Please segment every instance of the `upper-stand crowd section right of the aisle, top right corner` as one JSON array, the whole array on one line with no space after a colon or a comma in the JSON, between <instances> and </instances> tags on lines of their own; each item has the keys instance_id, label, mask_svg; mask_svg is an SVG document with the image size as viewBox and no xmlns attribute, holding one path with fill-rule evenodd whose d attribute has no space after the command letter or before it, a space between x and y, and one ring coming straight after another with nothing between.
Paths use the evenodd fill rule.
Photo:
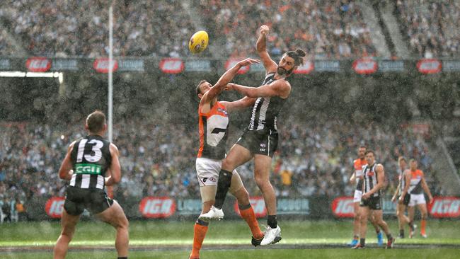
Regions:
<instances>
[{"instance_id":1,"label":"upper-stand crowd section right of the aisle, top right corner","mask_svg":"<svg viewBox=\"0 0 460 259\"><path fill-rule=\"evenodd\" d=\"M455 57L460 51L459 1L398 0L396 13L418 57Z\"/></svg>"}]
</instances>

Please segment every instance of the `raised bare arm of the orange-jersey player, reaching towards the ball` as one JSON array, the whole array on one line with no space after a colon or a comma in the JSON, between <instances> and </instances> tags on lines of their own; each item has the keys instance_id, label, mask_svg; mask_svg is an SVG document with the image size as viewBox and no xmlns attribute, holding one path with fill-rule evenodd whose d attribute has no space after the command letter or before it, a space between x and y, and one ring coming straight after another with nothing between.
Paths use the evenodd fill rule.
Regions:
<instances>
[{"instance_id":1,"label":"raised bare arm of the orange-jersey player, reaching towards the ball","mask_svg":"<svg viewBox=\"0 0 460 259\"><path fill-rule=\"evenodd\" d=\"M240 62L236 63L231 69L227 70L217 81L214 86L212 86L209 91L205 93L205 95L201 98L200 103L210 103L216 96L221 93L224 88L226 88L226 85L229 84L229 82L234 79L236 74L238 73L238 70L241 69L241 67L246 67L251 64L255 63L260 63L260 60L258 59L243 59Z\"/></svg>"}]
</instances>

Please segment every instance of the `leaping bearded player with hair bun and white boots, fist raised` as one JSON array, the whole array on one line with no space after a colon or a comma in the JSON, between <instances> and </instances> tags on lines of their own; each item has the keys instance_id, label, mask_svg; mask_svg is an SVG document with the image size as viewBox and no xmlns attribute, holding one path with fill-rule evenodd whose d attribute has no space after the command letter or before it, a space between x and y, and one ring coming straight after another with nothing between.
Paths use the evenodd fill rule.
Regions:
<instances>
[{"instance_id":1,"label":"leaping bearded player with hair bun and white boots, fist raised","mask_svg":"<svg viewBox=\"0 0 460 259\"><path fill-rule=\"evenodd\" d=\"M243 163L254 159L255 183L263 194L268 212L268 227L261 246L268 246L280 239L281 229L277 224L277 209L275 191L270 183L270 168L272 156L277 150L278 133L277 118L282 105L291 93L291 85L286 80L292 72L303 64L305 52L303 50L289 51L282 55L278 64L274 62L266 50L266 38L269 28L260 27L260 35L256 48L265 67L266 75L262 86L257 88L229 84L233 89L244 96L257 98L253 105L249 126L238 142L231 147L228 156L222 161L222 170L219 172L217 183L216 202L208 213L201 214L200 219L222 219L222 205L231 184L232 171Z\"/></svg>"}]
</instances>

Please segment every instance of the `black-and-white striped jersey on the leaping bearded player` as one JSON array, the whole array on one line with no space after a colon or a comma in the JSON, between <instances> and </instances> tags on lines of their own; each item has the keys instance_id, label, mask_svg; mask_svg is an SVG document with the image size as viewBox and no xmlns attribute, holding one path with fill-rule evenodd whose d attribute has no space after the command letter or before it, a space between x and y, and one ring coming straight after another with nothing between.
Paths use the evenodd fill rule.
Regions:
<instances>
[{"instance_id":1,"label":"black-and-white striped jersey on the leaping bearded player","mask_svg":"<svg viewBox=\"0 0 460 259\"><path fill-rule=\"evenodd\" d=\"M262 85L265 86L275 81L274 76L275 73L267 74ZM251 113L248 130L268 129L270 132L277 132L276 121L285 100L279 96L257 98Z\"/></svg>"}]
</instances>

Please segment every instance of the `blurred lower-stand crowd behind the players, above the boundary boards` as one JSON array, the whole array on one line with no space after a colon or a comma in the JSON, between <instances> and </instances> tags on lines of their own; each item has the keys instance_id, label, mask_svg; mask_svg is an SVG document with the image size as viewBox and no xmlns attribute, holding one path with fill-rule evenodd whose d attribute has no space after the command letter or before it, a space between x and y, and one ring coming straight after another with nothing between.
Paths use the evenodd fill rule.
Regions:
<instances>
[{"instance_id":1,"label":"blurred lower-stand crowd behind the players, above the boundary boards","mask_svg":"<svg viewBox=\"0 0 460 259\"><path fill-rule=\"evenodd\" d=\"M278 197L351 195L348 178L360 144L376 151L386 168L390 195L398 181L396 159L400 155L418 159L432 192L440 192L422 134L414 134L410 127L323 121L289 118L280 127L280 151L272 165ZM84 136L82 128L81 124L63 130L33 123L1 124L0 200L23 203L33 197L63 196L66 183L58 178L57 171L70 142ZM231 138L239 133L234 132ZM197 139L197 131L185 125L137 119L115 123L114 142L122 165L122 181L115 188L115 197L199 197ZM251 180L252 171L251 163L238 168L251 195L259 195Z\"/></svg>"}]
</instances>

